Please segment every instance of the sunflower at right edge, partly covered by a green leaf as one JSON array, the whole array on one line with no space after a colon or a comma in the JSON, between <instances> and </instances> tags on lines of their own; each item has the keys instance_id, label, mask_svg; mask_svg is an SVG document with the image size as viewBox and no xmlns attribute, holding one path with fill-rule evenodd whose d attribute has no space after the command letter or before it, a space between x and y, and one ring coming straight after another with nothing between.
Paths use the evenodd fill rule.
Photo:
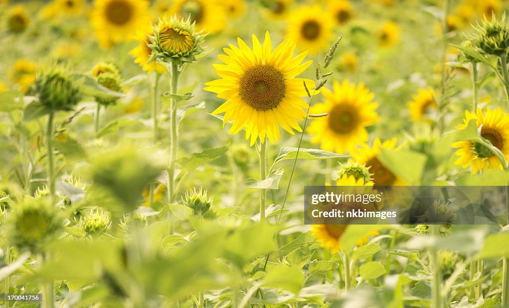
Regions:
<instances>
[{"instance_id":1,"label":"sunflower at right edge, partly covered by a green leaf","mask_svg":"<svg viewBox=\"0 0 509 308\"><path fill-rule=\"evenodd\" d=\"M507 160L509 155L509 115L503 113L500 107L486 110L486 116L483 111L477 108L477 115L470 111L465 111L464 124L458 125L456 129L465 129L470 120L476 120L477 127L483 126L480 135L491 142L499 149ZM455 142L451 145L453 148L459 148L456 155L460 156L455 164L463 165L463 169L472 165L472 173L480 170L503 169L502 163L485 146L470 141Z\"/></svg>"}]
</instances>

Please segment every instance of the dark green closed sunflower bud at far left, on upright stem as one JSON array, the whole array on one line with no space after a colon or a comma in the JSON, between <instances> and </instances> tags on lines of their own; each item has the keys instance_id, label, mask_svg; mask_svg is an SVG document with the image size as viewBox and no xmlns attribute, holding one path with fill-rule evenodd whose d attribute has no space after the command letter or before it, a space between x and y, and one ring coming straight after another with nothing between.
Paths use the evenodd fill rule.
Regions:
<instances>
[{"instance_id":1,"label":"dark green closed sunflower bud at far left, on upright stem","mask_svg":"<svg viewBox=\"0 0 509 308\"><path fill-rule=\"evenodd\" d=\"M79 87L60 66L41 72L35 80L34 92L51 111L72 110L80 99Z\"/></svg>"}]
</instances>

